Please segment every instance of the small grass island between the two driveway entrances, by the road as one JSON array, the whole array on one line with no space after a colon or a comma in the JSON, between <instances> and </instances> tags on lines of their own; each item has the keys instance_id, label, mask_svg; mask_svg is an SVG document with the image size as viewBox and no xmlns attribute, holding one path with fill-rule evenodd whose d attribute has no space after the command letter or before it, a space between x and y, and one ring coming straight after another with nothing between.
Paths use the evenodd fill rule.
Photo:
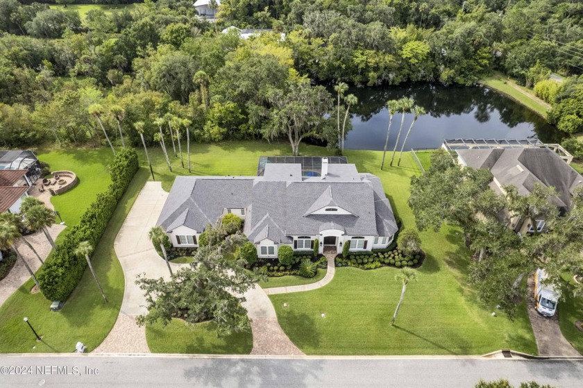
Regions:
<instances>
[{"instance_id":1,"label":"small grass island between the two driveway entrances, by the road","mask_svg":"<svg viewBox=\"0 0 583 388\"><path fill-rule=\"evenodd\" d=\"M152 353L249 354L253 349L251 332L217 337L214 323L189 325L181 319L172 319L165 328L146 326L146 339Z\"/></svg>"}]
</instances>

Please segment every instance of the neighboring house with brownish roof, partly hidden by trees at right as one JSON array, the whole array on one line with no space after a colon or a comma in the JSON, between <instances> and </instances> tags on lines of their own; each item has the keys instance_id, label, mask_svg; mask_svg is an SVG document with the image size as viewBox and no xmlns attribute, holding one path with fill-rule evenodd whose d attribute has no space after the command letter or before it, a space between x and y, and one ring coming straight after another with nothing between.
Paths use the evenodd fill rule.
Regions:
<instances>
[{"instance_id":1,"label":"neighboring house with brownish roof, partly hidden by trees at right","mask_svg":"<svg viewBox=\"0 0 583 388\"><path fill-rule=\"evenodd\" d=\"M498 194L503 194L504 187L509 185L515 186L522 195L530 194L535 183L554 187L557 196L552 202L561 214L571 210L573 192L583 187L583 176L548 148L457 149L455 152L461 165L489 169L493 175L490 187ZM535 227L544 230L545 221L536 220L534 226L530 220L512 217L509 226L524 235L533 233Z\"/></svg>"}]
</instances>

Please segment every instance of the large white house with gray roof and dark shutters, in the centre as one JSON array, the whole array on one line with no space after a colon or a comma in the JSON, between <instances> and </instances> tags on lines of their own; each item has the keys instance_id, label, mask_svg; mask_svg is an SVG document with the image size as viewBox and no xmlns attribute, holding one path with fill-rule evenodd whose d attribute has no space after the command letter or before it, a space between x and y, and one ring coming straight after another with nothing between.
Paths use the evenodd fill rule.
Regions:
<instances>
[{"instance_id":1,"label":"large white house with gray roof and dark shutters, in the centre","mask_svg":"<svg viewBox=\"0 0 583 388\"><path fill-rule=\"evenodd\" d=\"M328 158L288 159L262 157L259 176L176 177L157 225L174 246L197 247L209 224L237 214L260 258L276 258L282 245L311 251L315 239L320 253L391 244L398 227L377 176Z\"/></svg>"}]
</instances>

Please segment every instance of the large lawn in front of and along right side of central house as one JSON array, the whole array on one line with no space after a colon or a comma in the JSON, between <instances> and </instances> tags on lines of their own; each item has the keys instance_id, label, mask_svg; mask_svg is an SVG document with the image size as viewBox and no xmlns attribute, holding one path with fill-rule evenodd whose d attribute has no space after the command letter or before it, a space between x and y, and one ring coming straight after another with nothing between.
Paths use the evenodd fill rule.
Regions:
<instances>
[{"instance_id":1,"label":"large lawn in front of and along right side of central house","mask_svg":"<svg viewBox=\"0 0 583 388\"><path fill-rule=\"evenodd\" d=\"M414 227L407 199L410 178L419 167L412 155L403 155L400 167L385 171L379 169L382 152L346 155L359 171L381 178L396 216L405 227ZM426 231L421 239L427 257L419 282L407 288L395 327L390 321L400 296L398 269L339 268L321 289L270 296L283 330L306 354L483 354L501 348L537 353L524 305L512 322L493 305L480 304L468 287L470 253L458 228ZM498 316L491 317L495 310Z\"/></svg>"}]
</instances>

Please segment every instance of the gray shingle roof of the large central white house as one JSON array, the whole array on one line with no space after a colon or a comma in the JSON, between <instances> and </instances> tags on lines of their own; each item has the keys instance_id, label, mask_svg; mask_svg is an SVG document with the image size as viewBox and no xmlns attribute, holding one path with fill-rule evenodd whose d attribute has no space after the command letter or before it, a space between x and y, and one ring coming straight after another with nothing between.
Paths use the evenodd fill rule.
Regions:
<instances>
[{"instance_id":1,"label":"gray shingle roof of the large central white house","mask_svg":"<svg viewBox=\"0 0 583 388\"><path fill-rule=\"evenodd\" d=\"M344 230L346 235L391 236L396 232L391 205L376 176L356 173L355 180L356 168L350 165L341 169L346 174L344 182L296 180L298 171L287 180L282 173L291 171L289 166L268 166L267 177L177 177L158 225L167 231L185 225L200 232L217 221L224 208L246 208L244 233L253 242L265 238L292 242L292 235L318 235L322 228ZM342 171L337 171L337 180ZM326 205L337 205L354 215L310 214Z\"/></svg>"}]
</instances>

